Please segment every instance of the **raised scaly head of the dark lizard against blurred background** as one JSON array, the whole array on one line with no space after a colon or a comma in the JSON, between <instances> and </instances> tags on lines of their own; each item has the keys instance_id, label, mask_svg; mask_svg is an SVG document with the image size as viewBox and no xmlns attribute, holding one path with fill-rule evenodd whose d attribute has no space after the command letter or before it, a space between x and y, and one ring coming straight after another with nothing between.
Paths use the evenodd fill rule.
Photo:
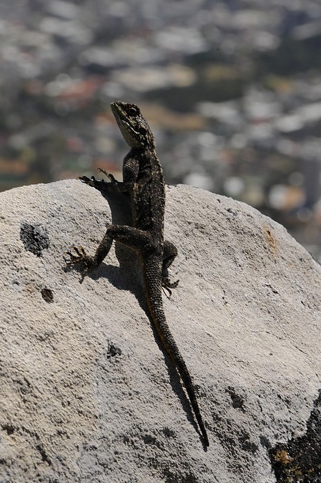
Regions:
<instances>
[{"instance_id":1,"label":"raised scaly head of the dark lizard against blurred background","mask_svg":"<svg viewBox=\"0 0 321 483\"><path fill-rule=\"evenodd\" d=\"M115 101L110 104L121 134L130 148L155 148L155 138L135 104Z\"/></svg>"}]
</instances>

